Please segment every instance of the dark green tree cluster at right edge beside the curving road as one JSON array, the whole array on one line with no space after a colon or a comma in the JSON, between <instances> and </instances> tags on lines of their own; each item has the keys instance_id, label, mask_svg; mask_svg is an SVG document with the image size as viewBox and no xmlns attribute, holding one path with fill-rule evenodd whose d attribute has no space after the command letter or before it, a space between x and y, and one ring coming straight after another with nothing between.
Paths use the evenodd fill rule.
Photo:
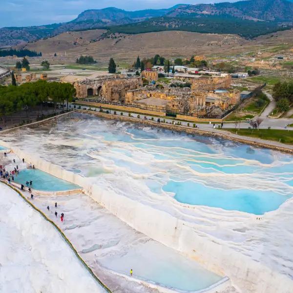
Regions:
<instances>
[{"instance_id":1,"label":"dark green tree cluster at right edge beside the curving road","mask_svg":"<svg viewBox=\"0 0 293 293\"><path fill-rule=\"evenodd\" d=\"M272 96L277 101L277 108L279 111L288 111L290 105L293 104L293 82L275 84Z\"/></svg>"}]
</instances>

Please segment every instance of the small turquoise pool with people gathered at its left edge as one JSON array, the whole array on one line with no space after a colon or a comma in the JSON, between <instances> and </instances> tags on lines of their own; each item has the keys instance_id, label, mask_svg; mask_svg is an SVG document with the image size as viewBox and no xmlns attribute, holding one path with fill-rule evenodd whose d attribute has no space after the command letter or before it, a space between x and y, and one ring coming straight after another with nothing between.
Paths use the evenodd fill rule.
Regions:
<instances>
[{"instance_id":1,"label":"small turquoise pool with people gathered at its left edge","mask_svg":"<svg viewBox=\"0 0 293 293\"><path fill-rule=\"evenodd\" d=\"M26 181L32 181L32 188L42 191L63 191L80 188L78 185L59 179L39 169L21 170L14 181L25 186Z\"/></svg>"}]
</instances>

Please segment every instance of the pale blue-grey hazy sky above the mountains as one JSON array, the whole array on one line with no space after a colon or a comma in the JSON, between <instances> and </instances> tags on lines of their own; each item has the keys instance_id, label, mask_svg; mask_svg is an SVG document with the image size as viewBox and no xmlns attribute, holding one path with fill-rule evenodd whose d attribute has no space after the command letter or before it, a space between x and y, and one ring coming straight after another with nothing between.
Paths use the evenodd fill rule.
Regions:
<instances>
[{"instance_id":1,"label":"pale blue-grey hazy sky above the mountains","mask_svg":"<svg viewBox=\"0 0 293 293\"><path fill-rule=\"evenodd\" d=\"M86 9L109 6L139 10L168 8L178 3L211 2L225 2L225 0L0 0L0 27L71 21ZM230 0L230 2L234 1Z\"/></svg>"}]
</instances>

